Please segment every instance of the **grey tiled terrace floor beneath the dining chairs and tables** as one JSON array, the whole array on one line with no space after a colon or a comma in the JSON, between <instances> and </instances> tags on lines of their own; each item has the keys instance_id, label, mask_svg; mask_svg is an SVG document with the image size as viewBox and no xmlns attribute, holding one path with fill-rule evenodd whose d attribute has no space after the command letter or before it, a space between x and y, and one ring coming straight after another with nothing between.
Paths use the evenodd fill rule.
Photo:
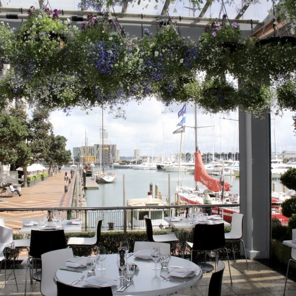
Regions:
<instances>
[{"instance_id":1,"label":"grey tiled terrace floor beneath the dining chairs and tables","mask_svg":"<svg viewBox=\"0 0 296 296\"><path fill-rule=\"evenodd\" d=\"M226 295L244 295L244 296L281 296L283 295L285 276L277 273L269 267L261 264L259 261L249 261L249 271L246 268L244 259L236 262L230 261L231 275L233 284L230 284L227 261L222 282L222 296ZM15 281L9 277L6 286L4 285L4 276L0 276L0 296L19 296L24 295L25 289L25 264L21 265L22 269L16 270L16 278L19 291L16 290ZM8 270L11 273L11 270ZM114 275L117 276L117 275ZM207 296L208 285L211 273L204 273L202 280L198 285L181 291L186 295ZM34 281L33 285L28 280L27 295L41 296L39 282ZM288 280L286 296L296 295L296 283Z\"/></svg>"}]
</instances>

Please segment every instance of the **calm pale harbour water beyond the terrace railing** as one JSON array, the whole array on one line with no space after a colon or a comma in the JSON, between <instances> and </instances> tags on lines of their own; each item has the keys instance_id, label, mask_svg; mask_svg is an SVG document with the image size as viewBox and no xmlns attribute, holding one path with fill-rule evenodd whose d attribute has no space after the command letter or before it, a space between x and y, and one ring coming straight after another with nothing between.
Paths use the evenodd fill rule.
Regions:
<instances>
[{"instance_id":1,"label":"calm pale harbour water beyond the terrace railing","mask_svg":"<svg viewBox=\"0 0 296 296\"><path fill-rule=\"evenodd\" d=\"M112 172L117 175L117 182L100 184L98 190L86 190L86 204L88 207L123 206L123 175L125 178L125 200L147 197L150 183L153 185L153 195L155 195L155 184L157 184L164 200L168 198L170 185L170 201L175 200L175 187L178 183L177 172L170 173L170 182L169 173L156 170L113 169ZM216 176L216 178L219 177ZM225 176L224 179L232 186L231 192L239 194L239 178ZM275 191L283 191L283 186L278 180L273 180L272 183L274 184ZM181 174L179 184L194 187L194 175L189 173ZM199 184L199 187L206 188L201 184Z\"/></svg>"}]
</instances>

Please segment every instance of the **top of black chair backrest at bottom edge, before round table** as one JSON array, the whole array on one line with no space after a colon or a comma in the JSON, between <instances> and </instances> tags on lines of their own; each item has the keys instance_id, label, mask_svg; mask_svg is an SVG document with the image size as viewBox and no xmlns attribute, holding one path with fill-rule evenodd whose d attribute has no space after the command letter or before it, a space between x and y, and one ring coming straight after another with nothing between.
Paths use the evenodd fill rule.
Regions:
<instances>
[{"instance_id":1,"label":"top of black chair backrest at bottom edge, before round table","mask_svg":"<svg viewBox=\"0 0 296 296\"><path fill-rule=\"evenodd\" d=\"M69 286L64 283L57 281L57 296L80 296L80 295L87 295L87 296L112 296L112 289L111 287L104 287L104 288L86 288L86 287L76 287L76 286Z\"/></svg>"}]
</instances>

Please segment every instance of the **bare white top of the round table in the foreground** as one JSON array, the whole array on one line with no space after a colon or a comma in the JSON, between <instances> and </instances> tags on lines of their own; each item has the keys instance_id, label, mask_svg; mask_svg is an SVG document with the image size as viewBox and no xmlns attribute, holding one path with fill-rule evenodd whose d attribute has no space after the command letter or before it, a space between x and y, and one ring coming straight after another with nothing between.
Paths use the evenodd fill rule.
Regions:
<instances>
[{"instance_id":1,"label":"bare white top of the round table in the foreground","mask_svg":"<svg viewBox=\"0 0 296 296\"><path fill-rule=\"evenodd\" d=\"M111 254L106 256L106 260L103 261L103 267L105 271L99 271L99 265L97 264L95 270L95 276L105 277L111 280L116 280L116 285L112 286L113 295L121 296L159 296L163 294L175 293L193 285L196 285L202 278L202 270L195 263L172 256L169 261L169 269L152 270L154 267L154 261L152 259L138 259L134 256L128 258L129 263L137 265L136 272L134 274L133 281L123 291L117 292L117 290L124 285L124 279L120 280L117 277L121 275L121 271L117 267L117 254ZM64 262L65 263L65 262ZM61 262L63 264L63 262ZM61 265L61 267L65 267ZM160 267L159 260L157 261L157 267ZM177 280L167 281L165 278L170 276L169 270L174 268L188 268L194 269L194 274L190 277L180 278ZM82 275L85 278L93 276L93 273L88 273L86 267L78 267L75 270L82 272L74 272L63 269L58 269L54 275L54 280L65 284L70 284L74 280L78 280ZM79 282L75 286L86 287L83 281Z\"/></svg>"}]
</instances>

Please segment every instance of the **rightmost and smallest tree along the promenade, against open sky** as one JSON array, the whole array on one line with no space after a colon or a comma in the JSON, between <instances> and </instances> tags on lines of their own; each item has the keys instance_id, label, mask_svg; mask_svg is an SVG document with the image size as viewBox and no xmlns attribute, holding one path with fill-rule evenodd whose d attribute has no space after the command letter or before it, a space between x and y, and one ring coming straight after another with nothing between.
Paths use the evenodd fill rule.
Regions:
<instances>
[{"instance_id":1,"label":"rightmost and smallest tree along the promenade, against open sky","mask_svg":"<svg viewBox=\"0 0 296 296\"><path fill-rule=\"evenodd\" d=\"M67 139L60 135L51 135L51 143L45 161L49 163L48 173L54 165L63 165L72 160L71 151L66 150Z\"/></svg>"}]
</instances>

